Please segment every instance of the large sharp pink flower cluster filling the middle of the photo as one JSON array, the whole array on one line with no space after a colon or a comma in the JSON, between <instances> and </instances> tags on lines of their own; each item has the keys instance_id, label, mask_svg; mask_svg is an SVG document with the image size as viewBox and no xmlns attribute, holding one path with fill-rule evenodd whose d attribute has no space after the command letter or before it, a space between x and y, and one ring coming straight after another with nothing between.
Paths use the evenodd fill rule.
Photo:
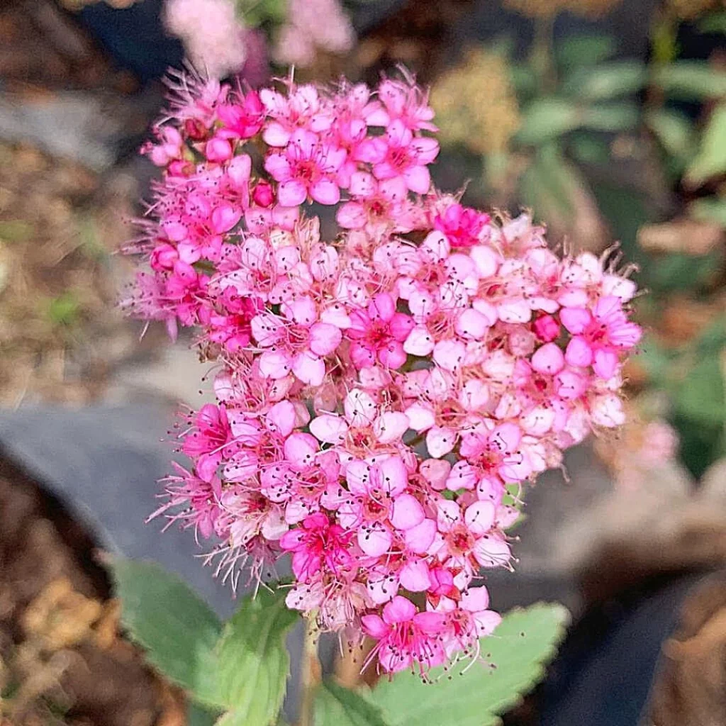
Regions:
<instances>
[{"instance_id":1,"label":"large sharp pink flower cluster filling the middle of the photo","mask_svg":"<svg viewBox=\"0 0 726 726\"><path fill-rule=\"evenodd\" d=\"M162 510L233 579L289 553L290 608L425 672L497 626L480 572L510 566L523 482L623 422L636 288L437 192L412 81L283 86L195 87L145 149L129 305L219 367Z\"/></svg>"}]
</instances>

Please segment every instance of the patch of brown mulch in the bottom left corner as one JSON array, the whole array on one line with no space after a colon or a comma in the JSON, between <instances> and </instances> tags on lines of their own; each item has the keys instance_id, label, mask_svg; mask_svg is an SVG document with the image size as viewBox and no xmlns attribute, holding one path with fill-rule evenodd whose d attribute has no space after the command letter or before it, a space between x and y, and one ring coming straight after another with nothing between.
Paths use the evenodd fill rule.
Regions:
<instances>
[{"instance_id":1,"label":"patch of brown mulch in the bottom left corner","mask_svg":"<svg viewBox=\"0 0 726 726\"><path fill-rule=\"evenodd\" d=\"M183 726L86 531L0 453L0 726Z\"/></svg>"}]
</instances>

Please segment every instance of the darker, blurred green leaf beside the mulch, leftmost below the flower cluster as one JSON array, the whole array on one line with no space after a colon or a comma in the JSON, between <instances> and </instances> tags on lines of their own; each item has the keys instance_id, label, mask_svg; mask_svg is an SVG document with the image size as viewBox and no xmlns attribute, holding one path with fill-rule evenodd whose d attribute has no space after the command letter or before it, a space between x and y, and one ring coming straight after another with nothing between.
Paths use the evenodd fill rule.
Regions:
<instances>
[{"instance_id":1,"label":"darker, blurred green leaf beside the mulch, leftmost below the flower cluster","mask_svg":"<svg viewBox=\"0 0 726 726\"><path fill-rule=\"evenodd\" d=\"M221 706L214 649L221 622L179 577L151 562L109 560L121 622L147 660L209 706Z\"/></svg>"}]
</instances>

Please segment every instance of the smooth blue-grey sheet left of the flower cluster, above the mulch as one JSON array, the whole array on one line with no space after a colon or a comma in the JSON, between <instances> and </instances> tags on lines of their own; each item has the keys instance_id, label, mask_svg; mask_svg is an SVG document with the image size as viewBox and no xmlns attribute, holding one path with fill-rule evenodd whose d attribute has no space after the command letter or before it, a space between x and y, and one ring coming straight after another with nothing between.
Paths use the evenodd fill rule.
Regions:
<instances>
[{"instance_id":1,"label":"smooth blue-grey sheet left of the flower cluster, above the mulch","mask_svg":"<svg viewBox=\"0 0 726 726\"><path fill-rule=\"evenodd\" d=\"M166 431L174 409L160 405L20 409L0 413L0 443L81 518L102 547L158 561L203 594L221 616L234 611L228 586L195 558L189 531L163 520L144 523L156 507L157 480L169 471Z\"/></svg>"}]
</instances>

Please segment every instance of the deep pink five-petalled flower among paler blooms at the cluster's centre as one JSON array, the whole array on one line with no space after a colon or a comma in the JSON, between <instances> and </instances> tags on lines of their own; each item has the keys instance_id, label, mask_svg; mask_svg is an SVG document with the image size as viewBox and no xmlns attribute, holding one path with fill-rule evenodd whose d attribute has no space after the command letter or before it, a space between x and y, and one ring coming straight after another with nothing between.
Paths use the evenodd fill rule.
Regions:
<instances>
[{"instance_id":1,"label":"deep pink five-petalled flower among paler blooms at the cluster's centre","mask_svg":"<svg viewBox=\"0 0 726 726\"><path fill-rule=\"evenodd\" d=\"M388 368L400 368L406 362L403 341L413 327L408 315L396 312L396 300L388 293L380 293L365 310L350 314L351 325L346 338L351 344L351 359L363 368L380 362Z\"/></svg>"}]
</instances>

